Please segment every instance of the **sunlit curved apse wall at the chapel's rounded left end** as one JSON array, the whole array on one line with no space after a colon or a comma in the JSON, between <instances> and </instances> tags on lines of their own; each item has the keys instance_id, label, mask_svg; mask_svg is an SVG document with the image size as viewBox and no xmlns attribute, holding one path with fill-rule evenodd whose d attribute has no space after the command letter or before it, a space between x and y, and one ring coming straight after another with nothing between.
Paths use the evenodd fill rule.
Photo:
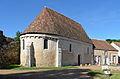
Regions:
<instances>
[{"instance_id":1,"label":"sunlit curved apse wall at the chapel's rounded left end","mask_svg":"<svg viewBox=\"0 0 120 79\"><path fill-rule=\"evenodd\" d=\"M33 43L33 51L36 67L55 67L56 66L56 48L57 40L48 37L41 37L37 34L26 34L21 37L21 56L20 63L25 66L27 49L26 47ZM25 49L23 49L23 39L25 41ZM48 49L44 49L44 39L48 39Z\"/></svg>"}]
</instances>

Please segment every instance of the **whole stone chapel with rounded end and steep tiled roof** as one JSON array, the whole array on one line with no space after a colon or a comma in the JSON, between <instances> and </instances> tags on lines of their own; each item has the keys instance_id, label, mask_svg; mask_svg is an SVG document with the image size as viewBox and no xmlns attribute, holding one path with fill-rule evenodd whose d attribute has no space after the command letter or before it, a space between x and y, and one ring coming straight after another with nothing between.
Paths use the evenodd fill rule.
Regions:
<instances>
[{"instance_id":1,"label":"whole stone chapel with rounded end and steep tiled roof","mask_svg":"<svg viewBox=\"0 0 120 79\"><path fill-rule=\"evenodd\" d=\"M81 24L47 7L20 35L20 40L23 66L93 63L93 43Z\"/></svg>"}]
</instances>

